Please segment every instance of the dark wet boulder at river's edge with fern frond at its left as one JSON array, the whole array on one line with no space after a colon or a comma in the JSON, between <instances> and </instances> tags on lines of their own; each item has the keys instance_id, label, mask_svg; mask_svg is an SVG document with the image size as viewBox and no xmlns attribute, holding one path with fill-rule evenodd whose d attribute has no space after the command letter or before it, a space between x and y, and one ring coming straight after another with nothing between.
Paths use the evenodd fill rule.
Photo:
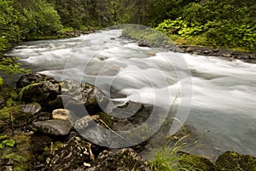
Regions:
<instances>
[{"instance_id":1,"label":"dark wet boulder at river's edge with fern frond at its left","mask_svg":"<svg viewBox=\"0 0 256 171\"><path fill-rule=\"evenodd\" d=\"M48 105L61 94L61 85L54 78L43 74L26 74L20 77L17 88L20 90L20 100L37 102L40 105Z\"/></svg>"}]
</instances>

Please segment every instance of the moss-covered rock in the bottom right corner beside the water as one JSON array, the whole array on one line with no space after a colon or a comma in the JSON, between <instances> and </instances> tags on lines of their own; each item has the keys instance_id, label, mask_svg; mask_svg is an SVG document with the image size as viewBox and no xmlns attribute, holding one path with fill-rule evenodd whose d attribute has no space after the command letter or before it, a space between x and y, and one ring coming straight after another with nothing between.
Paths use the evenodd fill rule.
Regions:
<instances>
[{"instance_id":1,"label":"moss-covered rock in the bottom right corner beside the water","mask_svg":"<svg viewBox=\"0 0 256 171\"><path fill-rule=\"evenodd\" d=\"M256 171L256 157L226 151L215 165L221 171Z\"/></svg>"}]
</instances>

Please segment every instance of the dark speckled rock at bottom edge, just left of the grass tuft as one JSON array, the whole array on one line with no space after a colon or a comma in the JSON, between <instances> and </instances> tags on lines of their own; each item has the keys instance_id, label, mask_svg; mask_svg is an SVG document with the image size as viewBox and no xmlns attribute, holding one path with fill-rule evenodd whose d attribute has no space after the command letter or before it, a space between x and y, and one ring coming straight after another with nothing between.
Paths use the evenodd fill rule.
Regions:
<instances>
[{"instance_id":1,"label":"dark speckled rock at bottom edge, just left of the grass tuft","mask_svg":"<svg viewBox=\"0 0 256 171\"><path fill-rule=\"evenodd\" d=\"M148 165L132 149L121 149L116 152L102 151L88 171L142 170L150 171Z\"/></svg>"}]
</instances>

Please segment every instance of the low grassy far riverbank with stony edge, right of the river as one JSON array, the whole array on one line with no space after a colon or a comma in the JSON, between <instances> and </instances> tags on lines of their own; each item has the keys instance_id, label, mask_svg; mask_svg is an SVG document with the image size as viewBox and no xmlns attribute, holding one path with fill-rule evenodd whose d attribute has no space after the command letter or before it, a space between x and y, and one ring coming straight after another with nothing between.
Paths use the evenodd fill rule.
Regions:
<instances>
[{"instance_id":1,"label":"low grassy far riverbank with stony edge, right of the river","mask_svg":"<svg viewBox=\"0 0 256 171\"><path fill-rule=\"evenodd\" d=\"M148 27L138 28L137 26L127 26L122 36L137 41L141 47L160 47L177 53L217 56L230 60L243 60L249 63L256 63L255 52L241 52L228 48L211 48L186 44L179 45L173 42L170 37L167 37L166 34Z\"/></svg>"}]
</instances>

